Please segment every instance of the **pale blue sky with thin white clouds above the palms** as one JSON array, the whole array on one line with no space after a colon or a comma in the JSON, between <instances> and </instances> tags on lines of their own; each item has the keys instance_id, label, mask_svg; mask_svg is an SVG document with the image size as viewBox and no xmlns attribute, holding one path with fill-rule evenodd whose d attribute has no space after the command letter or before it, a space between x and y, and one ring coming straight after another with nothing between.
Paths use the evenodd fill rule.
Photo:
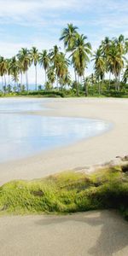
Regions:
<instances>
[{"instance_id":1,"label":"pale blue sky with thin white clouds above the palms","mask_svg":"<svg viewBox=\"0 0 128 256\"><path fill-rule=\"evenodd\" d=\"M67 23L79 27L95 50L101 40L120 33L128 38L127 0L0 0L0 55L11 57L21 47L39 50L58 44ZM92 63L86 74L92 72ZM33 67L29 81L34 83ZM38 68L38 84L44 72Z\"/></svg>"}]
</instances>

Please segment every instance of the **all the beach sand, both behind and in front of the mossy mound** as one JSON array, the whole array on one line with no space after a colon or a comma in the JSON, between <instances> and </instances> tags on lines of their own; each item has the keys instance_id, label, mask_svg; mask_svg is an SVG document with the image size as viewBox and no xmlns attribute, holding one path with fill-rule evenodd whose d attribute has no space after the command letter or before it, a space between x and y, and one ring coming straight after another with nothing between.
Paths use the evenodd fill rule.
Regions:
<instances>
[{"instance_id":1,"label":"all the beach sand, both behind and in front of the mossy mound","mask_svg":"<svg viewBox=\"0 0 128 256\"><path fill-rule=\"evenodd\" d=\"M98 137L0 164L1 184L70 169L84 170L85 166L128 153L127 99L51 99L43 105L48 109L30 114L103 119L112 126ZM126 256L127 229L118 212L106 210L66 216L5 216L0 218L0 254Z\"/></svg>"}]
</instances>

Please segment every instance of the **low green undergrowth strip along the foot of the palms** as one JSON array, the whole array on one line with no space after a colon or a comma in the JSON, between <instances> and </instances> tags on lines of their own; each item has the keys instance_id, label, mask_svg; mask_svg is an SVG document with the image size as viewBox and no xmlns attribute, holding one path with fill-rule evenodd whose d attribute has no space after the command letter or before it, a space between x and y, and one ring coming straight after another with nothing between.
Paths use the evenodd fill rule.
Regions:
<instances>
[{"instance_id":1,"label":"low green undergrowth strip along the foot of the palms","mask_svg":"<svg viewBox=\"0 0 128 256\"><path fill-rule=\"evenodd\" d=\"M88 82L90 83L90 82ZM108 90L108 80L104 82L102 85L102 91L99 95L97 86L88 84L87 86L88 96L90 97L119 97L119 98L127 98L128 97L128 84L120 83L120 90L115 91L113 89L113 84L110 85ZM36 96L36 97L76 97L77 90L74 89L63 89L63 90L23 90L23 91L11 91L11 92L2 92L0 91L0 97L11 97L11 96ZM84 87L79 84L79 97L84 97Z\"/></svg>"}]
</instances>

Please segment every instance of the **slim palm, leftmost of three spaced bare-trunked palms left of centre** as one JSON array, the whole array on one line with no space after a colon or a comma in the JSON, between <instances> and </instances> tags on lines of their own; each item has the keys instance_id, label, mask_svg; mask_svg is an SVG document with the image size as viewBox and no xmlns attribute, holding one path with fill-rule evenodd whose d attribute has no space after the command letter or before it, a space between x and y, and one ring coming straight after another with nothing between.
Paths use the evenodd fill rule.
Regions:
<instances>
[{"instance_id":1,"label":"slim palm, leftmost of three spaced bare-trunked palms left of centre","mask_svg":"<svg viewBox=\"0 0 128 256\"><path fill-rule=\"evenodd\" d=\"M20 61L20 65L22 67L23 73L26 73L26 90L28 90L28 68L30 67L32 61L31 61L31 55L28 49L22 48L20 49L18 55L18 60Z\"/></svg>"}]
</instances>

